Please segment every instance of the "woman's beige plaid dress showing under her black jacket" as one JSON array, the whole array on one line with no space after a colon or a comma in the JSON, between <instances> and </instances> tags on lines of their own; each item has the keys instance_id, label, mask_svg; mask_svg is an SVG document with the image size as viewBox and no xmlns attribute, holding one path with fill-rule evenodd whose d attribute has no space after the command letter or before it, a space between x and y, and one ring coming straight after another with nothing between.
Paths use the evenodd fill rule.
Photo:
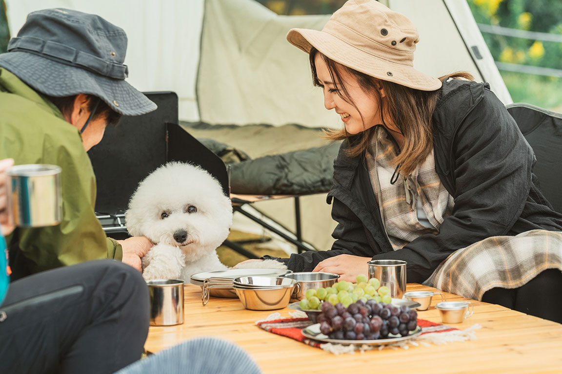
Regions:
<instances>
[{"instance_id":1,"label":"woman's beige plaid dress showing under her black jacket","mask_svg":"<svg viewBox=\"0 0 562 374\"><path fill-rule=\"evenodd\" d=\"M407 178L391 184L396 146L379 127L370 146L369 175L380 213L395 250L426 233L437 233L454 201L435 172L433 153ZM420 199L435 229L419 223ZM546 269L562 270L562 232L532 230L518 236L484 239L452 253L424 282L466 298L481 300L495 287L517 288Z\"/></svg>"}]
</instances>

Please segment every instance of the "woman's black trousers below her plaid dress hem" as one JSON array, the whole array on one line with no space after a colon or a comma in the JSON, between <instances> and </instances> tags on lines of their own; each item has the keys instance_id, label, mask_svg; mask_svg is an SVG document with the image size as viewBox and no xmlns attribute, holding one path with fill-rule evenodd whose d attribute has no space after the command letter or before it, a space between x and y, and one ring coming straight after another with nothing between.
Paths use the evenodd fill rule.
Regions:
<instances>
[{"instance_id":1,"label":"woman's black trousers below her plaid dress hem","mask_svg":"<svg viewBox=\"0 0 562 374\"><path fill-rule=\"evenodd\" d=\"M549 269L519 288L492 288L482 301L562 324L562 271Z\"/></svg>"}]
</instances>

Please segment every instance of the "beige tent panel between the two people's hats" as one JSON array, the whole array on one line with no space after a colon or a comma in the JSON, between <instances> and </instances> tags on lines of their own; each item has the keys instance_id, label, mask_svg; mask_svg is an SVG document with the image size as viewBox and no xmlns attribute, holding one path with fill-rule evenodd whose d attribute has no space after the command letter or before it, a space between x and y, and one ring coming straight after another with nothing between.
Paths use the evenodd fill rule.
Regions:
<instances>
[{"instance_id":1,"label":"beige tent panel between the two people's hats","mask_svg":"<svg viewBox=\"0 0 562 374\"><path fill-rule=\"evenodd\" d=\"M339 126L312 86L308 56L285 39L321 29L330 15L278 16L252 0L207 0L197 97L209 123Z\"/></svg>"}]
</instances>

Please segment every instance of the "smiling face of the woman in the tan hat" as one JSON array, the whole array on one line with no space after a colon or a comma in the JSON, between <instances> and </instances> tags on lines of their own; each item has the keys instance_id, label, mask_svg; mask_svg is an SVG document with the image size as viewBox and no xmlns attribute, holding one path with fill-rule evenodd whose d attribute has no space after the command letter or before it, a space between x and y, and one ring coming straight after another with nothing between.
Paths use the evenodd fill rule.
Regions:
<instances>
[{"instance_id":1,"label":"smiling face of the woman in the tan hat","mask_svg":"<svg viewBox=\"0 0 562 374\"><path fill-rule=\"evenodd\" d=\"M328 65L324 62L320 53L316 53L314 64L316 67L316 77L318 77L324 93L324 106L328 110L336 110L336 113L342 118L347 133L355 135L377 124L382 124L378 100L374 96L365 93L355 77L346 71L339 71L343 82L336 82L336 88L336 85L332 82ZM359 110L338 95L338 89L341 89L342 83ZM383 93L380 94L384 96Z\"/></svg>"}]
</instances>

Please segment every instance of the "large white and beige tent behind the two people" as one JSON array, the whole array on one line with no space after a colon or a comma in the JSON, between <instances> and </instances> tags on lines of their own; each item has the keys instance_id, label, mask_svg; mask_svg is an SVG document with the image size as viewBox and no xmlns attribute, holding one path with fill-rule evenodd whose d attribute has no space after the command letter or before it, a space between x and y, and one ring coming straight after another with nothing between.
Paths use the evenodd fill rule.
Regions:
<instances>
[{"instance_id":1,"label":"large white and beige tent behind the two people","mask_svg":"<svg viewBox=\"0 0 562 374\"><path fill-rule=\"evenodd\" d=\"M308 58L285 40L292 27L321 29L329 15L278 16L253 0L4 0L12 35L35 10L97 13L129 37L129 82L142 91L175 91L184 121L212 124L298 123L340 127L312 86ZM306 1L306 0L301 0ZM511 103L464 0L382 0L418 27L414 66L432 75L468 71ZM271 144L275 142L271 139ZM256 204L294 228L292 204ZM301 198L302 236L329 249L335 223L325 196Z\"/></svg>"}]
</instances>

